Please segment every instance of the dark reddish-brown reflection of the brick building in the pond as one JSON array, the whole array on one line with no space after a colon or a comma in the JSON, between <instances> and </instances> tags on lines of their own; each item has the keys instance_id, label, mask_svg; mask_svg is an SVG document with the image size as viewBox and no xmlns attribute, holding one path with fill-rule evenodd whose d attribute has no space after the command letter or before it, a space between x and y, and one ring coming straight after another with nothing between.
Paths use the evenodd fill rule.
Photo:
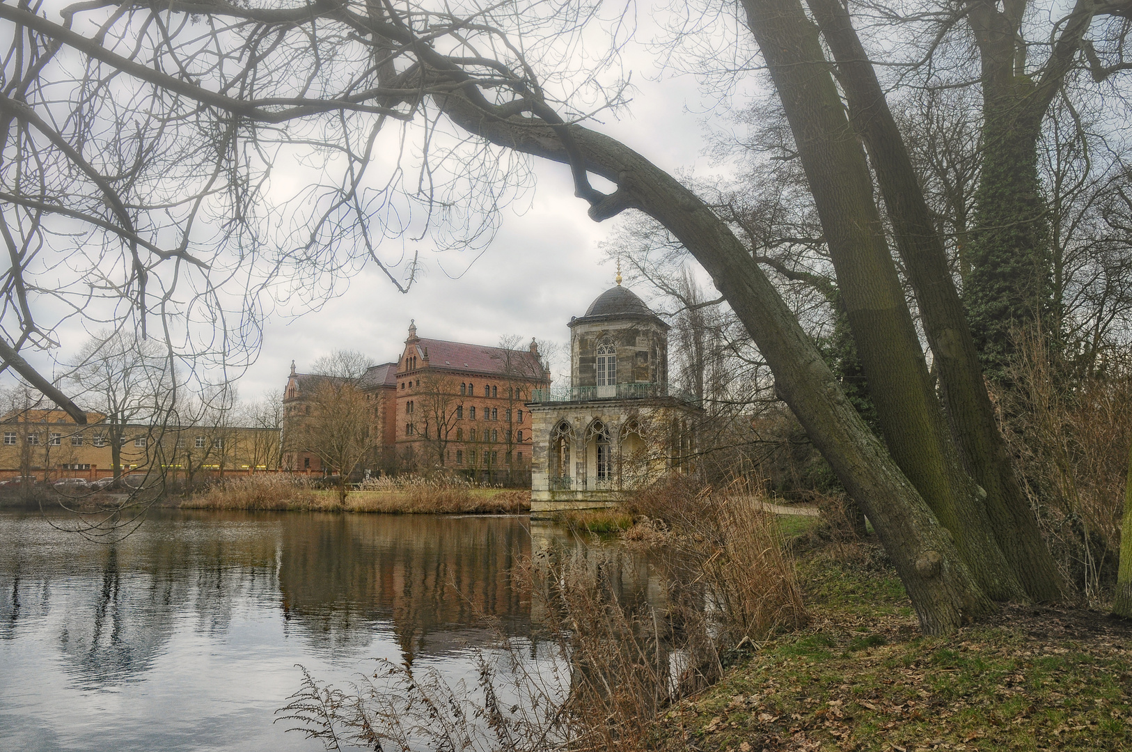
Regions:
<instances>
[{"instance_id":1,"label":"dark reddish-brown reflection of the brick building in the pond","mask_svg":"<svg viewBox=\"0 0 1132 752\"><path fill-rule=\"evenodd\" d=\"M283 613L320 650L365 644L392 625L402 658L482 642L482 616L526 634L531 550L525 518L308 515L283 535Z\"/></svg>"}]
</instances>

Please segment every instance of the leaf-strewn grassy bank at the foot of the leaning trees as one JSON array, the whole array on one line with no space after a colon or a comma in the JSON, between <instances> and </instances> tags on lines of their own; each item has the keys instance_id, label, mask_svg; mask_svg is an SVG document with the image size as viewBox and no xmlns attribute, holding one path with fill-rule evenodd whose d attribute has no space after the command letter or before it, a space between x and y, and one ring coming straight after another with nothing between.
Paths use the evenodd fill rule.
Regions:
<instances>
[{"instance_id":1,"label":"leaf-strewn grassy bank at the foot of the leaning trees","mask_svg":"<svg viewBox=\"0 0 1132 752\"><path fill-rule=\"evenodd\" d=\"M826 545L800 555L798 573L811 624L664 712L660 746L1132 747L1132 624L1012 606L954 636L925 638L878 548Z\"/></svg>"}]
</instances>

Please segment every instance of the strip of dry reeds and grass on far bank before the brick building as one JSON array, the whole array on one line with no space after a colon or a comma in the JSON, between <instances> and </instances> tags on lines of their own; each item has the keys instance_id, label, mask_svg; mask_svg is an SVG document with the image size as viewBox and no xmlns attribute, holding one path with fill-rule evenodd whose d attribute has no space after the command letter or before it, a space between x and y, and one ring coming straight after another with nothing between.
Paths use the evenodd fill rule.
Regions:
<instances>
[{"instance_id":1,"label":"strip of dry reeds and grass on far bank before the brick building","mask_svg":"<svg viewBox=\"0 0 1132 752\"><path fill-rule=\"evenodd\" d=\"M531 510L531 493L522 489L471 488L445 482L385 484L376 490L353 490L345 504L334 489L310 488L286 479L247 478L213 486L180 503L190 510L286 512L385 512L394 514L516 514Z\"/></svg>"}]
</instances>

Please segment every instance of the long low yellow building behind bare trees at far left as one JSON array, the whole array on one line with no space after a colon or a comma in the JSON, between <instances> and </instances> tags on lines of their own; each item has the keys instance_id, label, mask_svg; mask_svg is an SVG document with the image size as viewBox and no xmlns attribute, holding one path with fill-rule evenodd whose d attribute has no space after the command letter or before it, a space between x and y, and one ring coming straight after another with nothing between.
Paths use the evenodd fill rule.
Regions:
<instances>
[{"instance_id":1,"label":"long low yellow building behind bare trees at far left","mask_svg":"<svg viewBox=\"0 0 1132 752\"><path fill-rule=\"evenodd\" d=\"M237 426L112 426L88 412L80 426L62 410L20 410L0 420L0 479L36 480L114 475L161 468L171 479L277 470L280 431Z\"/></svg>"}]
</instances>

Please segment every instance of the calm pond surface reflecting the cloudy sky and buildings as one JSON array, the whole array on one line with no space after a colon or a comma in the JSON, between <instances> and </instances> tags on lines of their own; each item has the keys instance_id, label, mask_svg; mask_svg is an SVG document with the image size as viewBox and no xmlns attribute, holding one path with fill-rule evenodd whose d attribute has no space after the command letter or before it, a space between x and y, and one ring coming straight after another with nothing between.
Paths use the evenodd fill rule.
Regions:
<instances>
[{"instance_id":1,"label":"calm pond surface reflecting the cloudy sky and buildings","mask_svg":"<svg viewBox=\"0 0 1132 752\"><path fill-rule=\"evenodd\" d=\"M531 549L523 516L161 512L108 546L0 512L0 747L320 750L272 724L297 665L471 677L481 615L530 636Z\"/></svg>"}]
</instances>

